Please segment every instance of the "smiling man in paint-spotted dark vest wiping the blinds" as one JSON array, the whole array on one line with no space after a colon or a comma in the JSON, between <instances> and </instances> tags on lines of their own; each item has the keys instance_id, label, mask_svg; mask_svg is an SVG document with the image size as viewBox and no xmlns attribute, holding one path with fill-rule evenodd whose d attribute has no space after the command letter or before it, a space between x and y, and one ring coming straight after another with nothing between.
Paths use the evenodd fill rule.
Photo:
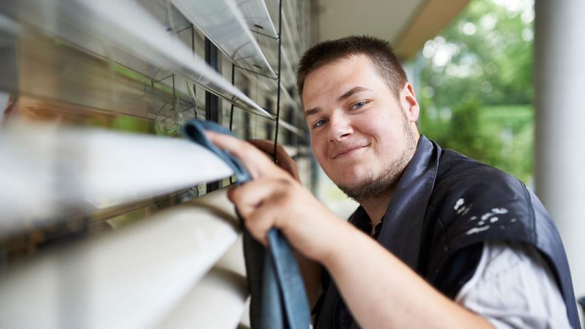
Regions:
<instances>
[{"instance_id":1,"label":"smiling man in paint-spotted dark vest wiping the blinds","mask_svg":"<svg viewBox=\"0 0 585 329\"><path fill-rule=\"evenodd\" d=\"M266 244L276 227L313 262L301 267L311 305L323 285L317 328L577 328L546 211L516 178L419 135L414 90L387 42L313 46L298 90L315 158L360 204L349 221L251 145L209 138L254 178L230 191L252 236Z\"/></svg>"}]
</instances>

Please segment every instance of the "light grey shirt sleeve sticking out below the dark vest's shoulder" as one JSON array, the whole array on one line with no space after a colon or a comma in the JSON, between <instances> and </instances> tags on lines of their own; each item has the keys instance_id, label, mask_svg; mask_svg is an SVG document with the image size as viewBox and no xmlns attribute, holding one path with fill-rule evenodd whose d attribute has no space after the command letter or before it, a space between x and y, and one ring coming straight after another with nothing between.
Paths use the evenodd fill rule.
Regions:
<instances>
[{"instance_id":1,"label":"light grey shirt sleeve sticking out below the dark vest's shoulder","mask_svg":"<svg viewBox=\"0 0 585 329\"><path fill-rule=\"evenodd\" d=\"M495 328L571 328L547 263L524 243L483 243L477 269L455 302Z\"/></svg>"}]
</instances>

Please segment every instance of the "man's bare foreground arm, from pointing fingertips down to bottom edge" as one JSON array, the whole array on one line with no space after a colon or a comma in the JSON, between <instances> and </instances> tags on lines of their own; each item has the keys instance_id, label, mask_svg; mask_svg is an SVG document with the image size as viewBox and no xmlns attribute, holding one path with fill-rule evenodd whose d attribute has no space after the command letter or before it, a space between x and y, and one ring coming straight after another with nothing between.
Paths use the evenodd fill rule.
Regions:
<instances>
[{"instance_id":1,"label":"man's bare foreground arm, from pointing fingertips down to bottom edge","mask_svg":"<svg viewBox=\"0 0 585 329\"><path fill-rule=\"evenodd\" d=\"M255 239L278 228L307 258L323 264L364 328L491 328L483 318L441 295L379 243L339 219L249 143L208 133L237 156L252 182L228 197Z\"/></svg>"}]
</instances>

